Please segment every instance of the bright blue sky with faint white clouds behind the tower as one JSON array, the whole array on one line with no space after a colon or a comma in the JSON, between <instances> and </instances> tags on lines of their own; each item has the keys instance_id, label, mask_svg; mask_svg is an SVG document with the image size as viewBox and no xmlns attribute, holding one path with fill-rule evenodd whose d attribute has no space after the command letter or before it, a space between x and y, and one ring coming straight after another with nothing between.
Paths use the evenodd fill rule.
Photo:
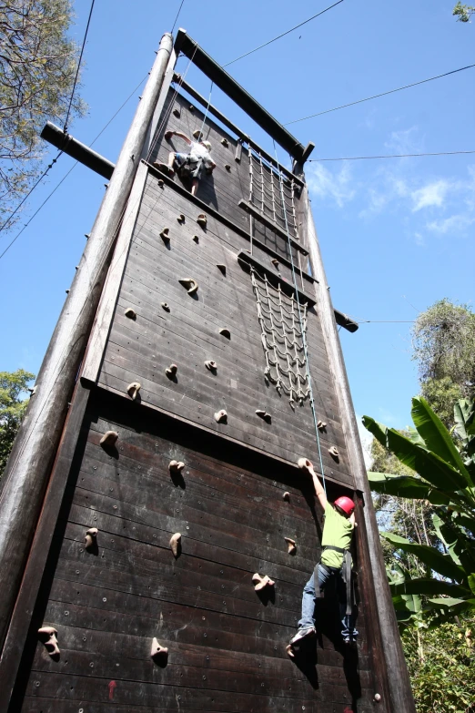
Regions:
<instances>
[{"instance_id":1,"label":"bright blue sky with faint white clouds behind the tower","mask_svg":"<svg viewBox=\"0 0 475 713\"><path fill-rule=\"evenodd\" d=\"M185 0L178 25L226 64L314 15L326 2ZM80 43L89 1L77 0L71 33ZM90 143L154 60L179 0L96 0L86 45L82 94L88 115L70 127ZM475 62L475 27L451 16L452 0L344 0L236 64L230 73L283 123ZM185 71L187 60L179 60ZM207 96L209 81L187 80ZM475 149L475 68L420 87L293 124L312 158ZM116 160L135 111L136 92L96 150ZM269 149L267 138L219 90L212 101ZM280 160L285 161L280 149ZM74 161L63 156L35 190L22 223ZM410 321L435 300L474 299L475 154L307 166L314 218L335 306L362 324L341 331L357 413L409 423L418 392L410 360ZM65 290L104 194L104 179L77 166L0 260L5 307L0 371L37 372ZM15 230L0 237L0 248ZM1 251L1 250L0 250Z\"/></svg>"}]
</instances>

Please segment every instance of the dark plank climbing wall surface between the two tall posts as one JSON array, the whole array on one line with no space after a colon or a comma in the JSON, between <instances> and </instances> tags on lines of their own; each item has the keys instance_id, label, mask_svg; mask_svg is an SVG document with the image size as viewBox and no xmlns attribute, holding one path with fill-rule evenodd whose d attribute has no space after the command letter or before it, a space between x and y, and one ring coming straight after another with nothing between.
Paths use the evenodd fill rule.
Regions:
<instances>
[{"instance_id":1,"label":"dark plank climbing wall surface between the two tall posts","mask_svg":"<svg viewBox=\"0 0 475 713\"><path fill-rule=\"evenodd\" d=\"M201 127L203 115L176 93L164 111L150 160L167 158L167 129L189 135ZM380 651L368 615L362 527L355 553L363 605L358 650L342 645L329 591L317 647L297 664L286 655L322 526L311 482L296 462L307 456L318 471L320 465L309 399L292 407L288 394L265 379L248 262L288 297L290 251L272 211L260 210L259 218L247 149L236 160L238 142L209 119L205 134L217 168L197 198L151 165L138 170L66 426L66 443L75 429L76 440L46 494L43 522L55 487L64 497L45 545L8 713L374 710ZM205 228L197 223L200 213ZM313 306L318 283L298 240L292 256L302 270L300 298L308 299L316 410L327 424L319 438L328 495L350 494L360 507ZM196 294L188 294L183 278L196 280ZM217 363L215 372L207 360ZM177 374L168 378L172 363ZM135 401L127 393L131 382L140 383ZM220 409L227 423L215 420ZM112 449L99 443L108 430L118 433ZM181 474L170 473L171 460L185 463ZM55 485L61 468L64 480ZM95 551L84 545L91 527L98 529ZM175 533L182 535L177 559L169 547ZM285 537L296 540L296 555L288 554ZM275 581L263 596L251 581L256 572ZM59 660L38 641L40 626L56 628ZM167 665L150 658L154 637L168 648Z\"/></svg>"}]
</instances>

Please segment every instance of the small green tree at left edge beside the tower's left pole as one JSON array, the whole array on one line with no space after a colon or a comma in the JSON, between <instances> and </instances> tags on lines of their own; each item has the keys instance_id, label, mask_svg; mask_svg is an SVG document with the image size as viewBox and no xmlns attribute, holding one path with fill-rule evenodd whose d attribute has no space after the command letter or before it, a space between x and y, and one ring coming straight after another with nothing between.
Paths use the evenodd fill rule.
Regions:
<instances>
[{"instance_id":1,"label":"small green tree at left edge beside the tower's left pole","mask_svg":"<svg viewBox=\"0 0 475 713\"><path fill-rule=\"evenodd\" d=\"M22 423L29 399L22 399L28 384L35 374L18 369L16 372L0 372L0 475Z\"/></svg>"}]
</instances>

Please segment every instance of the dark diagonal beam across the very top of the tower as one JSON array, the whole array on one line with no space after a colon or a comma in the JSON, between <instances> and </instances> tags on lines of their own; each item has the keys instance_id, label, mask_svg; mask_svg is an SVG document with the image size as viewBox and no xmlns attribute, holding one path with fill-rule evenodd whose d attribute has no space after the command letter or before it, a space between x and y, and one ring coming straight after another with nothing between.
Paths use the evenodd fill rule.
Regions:
<instances>
[{"instance_id":1,"label":"dark diagonal beam across the very top of the tower","mask_svg":"<svg viewBox=\"0 0 475 713\"><path fill-rule=\"evenodd\" d=\"M211 79L217 87L227 94L227 97L236 102L238 107L243 109L249 117L263 128L271 138L274 138L279 146L284 148L290 156L298 161L303 161L306 149L300 142L290 134L287 128L279 124L277 119L272 117L268 111L248 94L244 87L241 87L236 79L227 74L222 66L218 65L212 57L207 55L194 39L187 35L186 30L179 29L177 33L177 46L194 65L201 69L206 76ZM308 152L309 155L309 152ZM308 158L307 155L307 158Z\"/></svg>"}]
</instances>

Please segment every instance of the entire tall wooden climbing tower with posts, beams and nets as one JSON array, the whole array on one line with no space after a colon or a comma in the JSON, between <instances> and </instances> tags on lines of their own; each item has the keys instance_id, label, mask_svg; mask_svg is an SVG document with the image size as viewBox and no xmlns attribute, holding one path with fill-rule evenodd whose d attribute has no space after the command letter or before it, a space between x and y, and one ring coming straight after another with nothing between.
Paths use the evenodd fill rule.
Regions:
<instances>
[{"instance_id":1,"label":"entire tall wooden climbing tower with posts, beams and nets","mask_svg":"<svg viewBox=\"0 0 475 713\"><path fill-rule=\"evenodd\" d=\"M291 169L175 73L179 52ZM5 475L0 709L410 713L339 348L337 324L357 325L331 304L309 209L313 147L185 31L157 62L116 167L82 147L112 178ZM211 143L196 196L153 165L183 149L170 131ZM330 500L356 503L359 644L328 591L292 661L323 525L301 457Z\"/></svg>"}]
</instances>

